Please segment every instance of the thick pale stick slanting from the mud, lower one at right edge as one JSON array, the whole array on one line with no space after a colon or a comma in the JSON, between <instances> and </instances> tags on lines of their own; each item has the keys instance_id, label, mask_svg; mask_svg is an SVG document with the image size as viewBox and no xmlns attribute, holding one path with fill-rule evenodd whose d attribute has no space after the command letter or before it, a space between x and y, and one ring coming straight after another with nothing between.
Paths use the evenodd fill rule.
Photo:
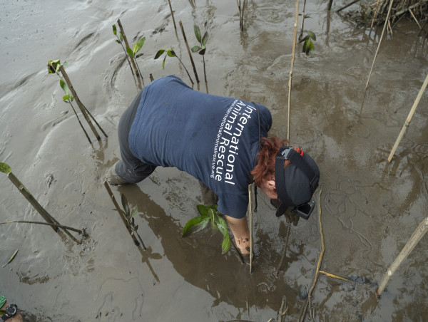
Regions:
<instances>
[{"instance_id":1,"label":"thick pale stick slanting from the mud, lower one at right edge","mask_svg":"<svg viewBox=\"0 0 428 322\"><path fill-rule=\"evenodd\" d=\"M392 275L394 275L395 271L399 268L399 266L402 264L402 261L409 256L410 252L414 249L414 246L417 245L419 240L424 237L424 234L428 231L428 217L425 218L417 227L417 229L414 231L412 236L409 238L407 243L404 245L402 251L400 251L397 258L394 260L394 262L389 266L389 269L387 270L387 273L384 274L384 277L382 281L379 283L379 287L377 288L376 294L377 296L380 296L382 292L384 291L384 288L387 286L389 280L391 279Z\"/></svg>"}]
</instances>

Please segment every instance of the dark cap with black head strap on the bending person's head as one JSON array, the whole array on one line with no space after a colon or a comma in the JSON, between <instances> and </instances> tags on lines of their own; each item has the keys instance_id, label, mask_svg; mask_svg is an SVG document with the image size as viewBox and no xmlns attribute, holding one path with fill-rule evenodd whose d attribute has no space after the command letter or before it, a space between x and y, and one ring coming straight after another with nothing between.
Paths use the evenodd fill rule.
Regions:
<instances>
[{"instance_id":1,"label":"dark cap with black head strap on the bending person's head","mask_svg":"<svg viewBox=\"0 0 428 322\"><path fill-rule=\"evenodd\" d=\"M309 202L320 181L320 169L312 157L298 147L296 150L281 147L275 157L275 187L281 202L277 217L282 216L287 207L299 207ZM285 160L291 163L284 169Z\"/></svg>"}]
</instances>

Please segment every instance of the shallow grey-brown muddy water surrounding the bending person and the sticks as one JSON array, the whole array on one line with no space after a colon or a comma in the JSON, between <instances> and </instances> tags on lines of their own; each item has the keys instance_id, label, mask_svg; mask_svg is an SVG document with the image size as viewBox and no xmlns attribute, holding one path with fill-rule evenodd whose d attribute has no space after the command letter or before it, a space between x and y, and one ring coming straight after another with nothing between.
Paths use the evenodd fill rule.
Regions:
<instances>
[{"instance_id":1,"label":"shallow grey-brown muddy water surrounding the bending person and the sticks","mask_svg":"<svg viewBox=\"0 0 428 322\"><path fill-rule=\"evenodd\" d=\"M210 38L208 84L195 90L254 100L273 115L271 133L287 135L287 83L292 53L292 1L248 1L239 31L234 1L172 1L190 46L193 24ZM339 8L345 2L335 3ZM369 34L327 1L307 4L305 29L317 35L315 55L297 48L291 93L290 140L322 171L320 197L325 255L312 293L315 321L427 321L427 246L424 237L381 298L377 283L419 222L427 216L428 95L389 164L387 156L428 73L428 43L402 19L382 42L369 88L368 73L381 28ZM36 224L0 225L0 291L29 321L267 321L287 298L284 321L296 321L312 285L320 253L318 214L292 227L287 256L275 274L287 225L259 194L254 218L255 268L235 251L221 255L209 229L185 239L180 232L202 202L198 182L174 168L158 168L138 185L112 187L138 207L136 224L147 251L133 245L103 187L119 157L118 120L138 93L111 26L121 19L128 39L146 36L138 58L145 83L183 68L160 48L174 48L191 73L167 1L1 1L0 161L61 224L86 228L76 244ZM302 11L302 4L300 6ZM79 98L108 138L89 145L62 101L49 59L68 61ZM203 66L194 56L198 75ZM191 74L193 77L193 74ZM193 77L194 78L194 77ZM91 135L91 133L90 133ZM96 140L93 140L96 141ZM1 222L41 221L7 180L0 180ZM309 316L306 317L309 320Z\"/></svg>"}]
</instances>

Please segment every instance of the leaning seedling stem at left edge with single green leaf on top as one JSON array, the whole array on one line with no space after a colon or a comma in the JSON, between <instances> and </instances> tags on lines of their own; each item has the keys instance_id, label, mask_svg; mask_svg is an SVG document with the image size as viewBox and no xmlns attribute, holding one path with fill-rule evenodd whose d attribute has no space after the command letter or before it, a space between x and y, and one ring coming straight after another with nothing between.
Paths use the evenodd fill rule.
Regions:
<instances>
[{"instance_id":1,"label":"leaning seedling stem at left edge with single green leaf on top","mask_svg":"<svg viewBox=\"0 0 428 322\"><path fill-rule=\"evenodd\" d=\"M44 209L44 207L41 207L41 204L37 202L37 200L29 192L29 190L14 175L9 165L7 165L4 162L0 162L0 172L3 172L7 175L7 177L9 178L9 180L11 180L11 182L15 185L15 187L19 189L19 192L21 192L21 194L30 202L31 206L33 206L34 209L36 209L36 211L39 212L41 217L43 217L46 220L46 222L49 225L51 225L51 227L54 229L55 232L58 232L58 227L60 227L68 235L68 237L76 241L77 244L80 244L80 241L78 241L76 237L70 234L70 232L68 232L68 230L64 228L64 226L59 224L59 222L56 221L56 219L54 219L54 217L52 217L51 214L49 214L49 212L47 212L46 209Z\"/></svg>"}]
</instances>

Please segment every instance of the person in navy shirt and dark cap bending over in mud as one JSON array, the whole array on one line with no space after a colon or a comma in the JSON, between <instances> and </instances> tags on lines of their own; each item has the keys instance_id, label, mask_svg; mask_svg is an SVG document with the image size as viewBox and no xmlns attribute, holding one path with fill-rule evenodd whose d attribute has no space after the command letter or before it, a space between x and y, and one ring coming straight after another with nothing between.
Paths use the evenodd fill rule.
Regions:
<instances>
[{"instance_id":1,"label":"person in navy shirt and dark cap bending over in mud","mask_svg":"<svg viewBox=\"0 0 428 322\"><path fill-rule=\"evenodd\" d=\"M310 201L320 179L312 158L267 133L263 105L193 90L176 76L147 85L121 116L121 160L108 171L112 185L141 182L156 167L177 167L213 192L243 255L249 254L248 185L255 182L277 217ZM287 219L297 224L295 212Z\"/></svg>"}]
</instances>

